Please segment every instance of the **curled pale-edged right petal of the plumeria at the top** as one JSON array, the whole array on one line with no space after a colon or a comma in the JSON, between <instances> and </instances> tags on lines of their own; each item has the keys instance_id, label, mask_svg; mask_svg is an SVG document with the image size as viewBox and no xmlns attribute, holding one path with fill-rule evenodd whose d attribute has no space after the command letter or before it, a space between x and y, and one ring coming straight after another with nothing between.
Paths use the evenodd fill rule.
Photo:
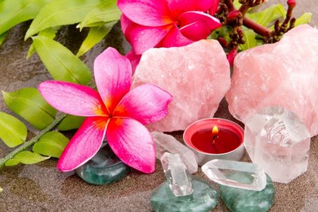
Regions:
<instances>
[{"instance_id":1,"label":"curled pale-edged right petal of the plumeria at the top","mask_svg":"<svg viewBox=\"0 0 318 212\"><path fill-rule=\"evenodd\" d=\"M183 15L180 15L179 21L181 23L180 27L187 26L196 21L202 21L207 24L211 31L222 26L220 20L216 19L216 17L197 11L183 13Z\"/></svg>"}]
</instances>

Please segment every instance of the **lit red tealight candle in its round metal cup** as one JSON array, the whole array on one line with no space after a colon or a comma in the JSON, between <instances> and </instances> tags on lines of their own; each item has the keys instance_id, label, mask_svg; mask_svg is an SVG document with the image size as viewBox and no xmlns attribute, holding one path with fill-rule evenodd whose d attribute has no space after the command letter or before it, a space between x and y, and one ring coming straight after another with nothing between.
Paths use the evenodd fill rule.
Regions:
<instances>
[{"instance_id":1,"label":"lit red tealight candle in its round metal cup","mask_svg":"<svg viewBox=\"0 0 318 212\"><path fill-rule=\"evenodd\" d=\"M196 154L199 166L214 159L241 160L243 138L241 126L220 118L194 122L183 133L185 144Z\"/></svg>"}]
</instances>

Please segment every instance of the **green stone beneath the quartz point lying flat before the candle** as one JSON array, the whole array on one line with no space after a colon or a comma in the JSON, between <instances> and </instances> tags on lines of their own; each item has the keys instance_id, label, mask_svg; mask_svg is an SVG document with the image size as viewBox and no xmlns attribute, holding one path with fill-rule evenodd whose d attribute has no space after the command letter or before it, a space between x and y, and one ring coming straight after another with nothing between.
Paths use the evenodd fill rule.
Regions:
<instances>
[{"instance_id":1,"label":"green stone beneath the quartz point lying flat before the candle","mask_svg":"<svg viewBox=\"0 0 318 212\"><path fill-rule=\"evenodd\" d=\"M233 175L235 177L242 177ZM234 212L268 211L274 204L275 188L272 179L266 175L266 186L262 191L238 189L219 185L221 198L228 209Z\"/></svg>"}]
</instances>

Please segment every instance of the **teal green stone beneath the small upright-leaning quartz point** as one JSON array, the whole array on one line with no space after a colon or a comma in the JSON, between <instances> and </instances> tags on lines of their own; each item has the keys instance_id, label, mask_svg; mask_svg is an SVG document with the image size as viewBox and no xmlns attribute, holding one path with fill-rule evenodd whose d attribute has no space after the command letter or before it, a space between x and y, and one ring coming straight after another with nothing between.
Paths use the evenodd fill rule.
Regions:
<instances>
[{"instance_id":1,"label":"teal green stone beneath the small upright-leaning quartz point","mask_svg":"<svg viewBox=\"0 0 318 212\"><path fill-rule=\"evenodd\" d=\"M192 177L194 192L176 197L167 182L159 186L151 196L151 206L160 211L211 211L218 204L218 193L198 177Z\"/></svg>"}]
</instances>

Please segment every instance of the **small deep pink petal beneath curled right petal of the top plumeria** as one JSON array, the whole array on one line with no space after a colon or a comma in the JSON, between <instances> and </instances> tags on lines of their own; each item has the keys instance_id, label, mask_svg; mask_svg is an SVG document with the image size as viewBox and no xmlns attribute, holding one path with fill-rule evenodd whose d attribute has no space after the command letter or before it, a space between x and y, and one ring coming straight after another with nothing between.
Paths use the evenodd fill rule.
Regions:
<instances>
[{"instance_id":1,"label":"small deep pink petal beneath curled right petal of the top plumeria","mask_svg":"<svg viewBox=\"0 0 318 212\"><path fill-rule=\"evenodd\" d=\"M184 26L183 28L180 28L180 32L192 41L207 39L209 34L211 34L209 27L202 21L196 21L187 26Z\"/></svg>"}]
</instances>

